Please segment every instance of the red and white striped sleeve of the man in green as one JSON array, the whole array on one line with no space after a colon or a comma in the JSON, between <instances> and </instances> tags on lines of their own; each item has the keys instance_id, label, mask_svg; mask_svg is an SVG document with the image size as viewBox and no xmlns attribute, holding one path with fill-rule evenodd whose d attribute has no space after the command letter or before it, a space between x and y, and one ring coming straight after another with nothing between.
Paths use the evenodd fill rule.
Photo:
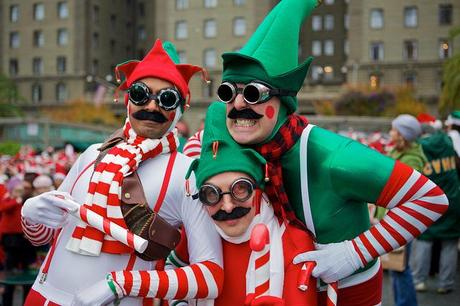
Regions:
<instances>
[{"instance_id":1,"label":"red and white striped sleeve of the man in green","mask_svg":"<svg viewBox=\"0 0 460 306\"><path fill-rule=\"evenodd\" d=\"M376 205L389 209L386 216L352 240L363 264L419 236L444 214L449 202L435 183L396 161Z\"/></svg>"}]
</instances>

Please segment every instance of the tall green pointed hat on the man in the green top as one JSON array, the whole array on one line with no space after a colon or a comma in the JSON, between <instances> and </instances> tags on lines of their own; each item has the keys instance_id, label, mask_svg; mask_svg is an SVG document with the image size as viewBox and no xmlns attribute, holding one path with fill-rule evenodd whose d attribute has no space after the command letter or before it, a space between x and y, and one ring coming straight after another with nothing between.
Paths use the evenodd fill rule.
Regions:
<instances>
[{"instance_id":1,"label":"tall green pointed hat on the man in the green top","mask_svg":"<svg viewBox=\"0 0 460 306\"><path fill-rule=\"evenodd\" d=\"M299 65L299 36L303 21L322 1L282 0L265 17L246 45L223 58L223 81L264 81L279 89L298 92L312 57ZM288 113L297 109L296 97L281 97Z\"/></svg>"}]
</instances>

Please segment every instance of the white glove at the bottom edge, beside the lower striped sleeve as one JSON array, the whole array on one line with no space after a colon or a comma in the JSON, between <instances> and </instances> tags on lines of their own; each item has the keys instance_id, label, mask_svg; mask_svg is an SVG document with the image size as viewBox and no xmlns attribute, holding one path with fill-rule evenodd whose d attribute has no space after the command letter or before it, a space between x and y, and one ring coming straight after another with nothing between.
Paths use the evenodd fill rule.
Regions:
<instances>
[{"instance_id":1,"label":"white glove at the bottom edge, beside the lower striped sleeve","mask_svg":"<svg viewBox=\"0 0 460 306\"><path fill-rule=\"evenodd\" d=\"M117 286L117 285L115 285ZM115 300L115 294L110 289L106 279L80 290L73 298L72 306L107 305Z\"/></svg>"}]
</instances>

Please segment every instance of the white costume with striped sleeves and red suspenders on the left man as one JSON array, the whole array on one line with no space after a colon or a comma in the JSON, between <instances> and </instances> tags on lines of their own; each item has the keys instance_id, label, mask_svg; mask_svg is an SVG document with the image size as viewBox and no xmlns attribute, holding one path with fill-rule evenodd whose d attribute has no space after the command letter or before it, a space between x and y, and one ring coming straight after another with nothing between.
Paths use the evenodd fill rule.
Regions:
<instances>
[{"instance_id":1,"label":"white costume with striped sleeves and red suspenders on the left man","mask_svg":"<svg viewBox=\"0 0 460 306\"><path fill-rule=\"evenodd\" d=\"M78 203L84 203L93 163L99 154L97 147L91 146L80 156L59 188L69 192ZM60 231L23 221L26 236L35 245L49 242L53 234L57 236L32 287L31 295L35 300L28 300L26 305L35 306L38 300L43 302L40 304L69 305L78 292L105 279L113 271L120 271L114 273L114 278L129 295L121 300L121 305L142 305L143 299L135 298L138 296L215 298L218 295L222 283L220 237L202 205L185 194L184 178L191 159L177 154L174 166L168 167L170 157L171 154L162 154L143 161L137 174L147 201L153 206L160 196L165 173L168 169L172 171L159 214L174 226L184 225L190 241L191 266L161 272L155 271L156 262L144 261L133 254L76 254L65 247L77 225L76 218L69 217L69 222ZM47 273L47 278L40 283L43 272Z\"/></svg>"}]
</instances>

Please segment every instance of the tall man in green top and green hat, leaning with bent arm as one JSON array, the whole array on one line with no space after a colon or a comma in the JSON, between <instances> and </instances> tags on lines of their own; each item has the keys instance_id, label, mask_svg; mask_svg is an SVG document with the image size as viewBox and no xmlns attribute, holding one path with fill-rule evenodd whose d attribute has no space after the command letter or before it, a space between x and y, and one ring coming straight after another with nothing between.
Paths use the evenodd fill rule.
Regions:
<instances>
[{"instance_id":1,"label":"tall man in green top and green hat, leaning with bent arm","mask_svg":"<svg viewBox=\"0 0 460 306\"><path fill-rule=\"evenodd\" d=\"M301 24L315 0L283 0L238 52L224 53L221 102L210 106L217 129L267 161L265 186L274 211L310 230L320 305L325 283L338 281L339 305L377 305L382 296L378 257L420 235L446 211L442 190L407 165L295 114L296 94L311 58L298 64ZM223 103L222 103L223 102ZM210 113L210 114L211 114ZM366 203L389 209L370 227Z\"/></svg>"}]
</instances>

